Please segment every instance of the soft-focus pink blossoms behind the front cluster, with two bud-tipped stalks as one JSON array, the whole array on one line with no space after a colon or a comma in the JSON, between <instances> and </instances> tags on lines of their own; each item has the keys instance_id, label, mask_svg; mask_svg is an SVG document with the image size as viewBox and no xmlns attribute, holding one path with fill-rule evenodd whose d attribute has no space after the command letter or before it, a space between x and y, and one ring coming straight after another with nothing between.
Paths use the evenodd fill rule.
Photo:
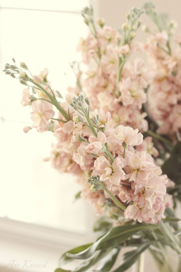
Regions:
<instances>
[{"instance_id":1,"label":"soft-focus pink blossoms behind the front cluster, with two bud-tipped stalks","mask_svg":"<svg viewBox=\"0 0 181 272\"><path fill-rule=\"evenodd\" d=\"M142 110L147 100L147 89L151 73L141 58L127 61L136 51L142 49L134 44L133 38L141 21L137 21L141 10L133 8L122 25L122 34L106 26L103 19L97 24L92 21L91 10L84 11L84 20L90 31L87 38L81 38L77 46L84 74L77 73L78 84L68 91L78 94L83 89L90 98L91 108L111 113L110 126L129 125L140 131L148 130L146 112Z\"/></svg>"}]
</instances>

